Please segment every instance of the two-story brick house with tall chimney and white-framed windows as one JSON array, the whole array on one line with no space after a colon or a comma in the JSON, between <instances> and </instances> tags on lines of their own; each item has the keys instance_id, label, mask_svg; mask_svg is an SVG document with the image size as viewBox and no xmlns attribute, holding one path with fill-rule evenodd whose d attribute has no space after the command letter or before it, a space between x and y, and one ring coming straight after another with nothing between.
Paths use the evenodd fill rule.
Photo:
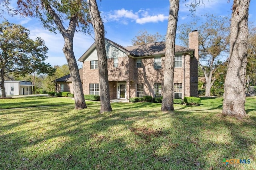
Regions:
<instances>
[{"instance_id":1,"label":"two-story brick house with tall chimney and white-framed windows","mask_svg":"<svg viewBox=\"0 0 256 170\"><path fill-rule=\"evenodd\" d=\"M110 99L160 97L164 86L165 42L122 47L105 40ZM198 32L189 47L175 46L174 97L198 96ZM83 62L84 94L100 94L95 43L78 59Z\"/></svg>"}]
</instances>

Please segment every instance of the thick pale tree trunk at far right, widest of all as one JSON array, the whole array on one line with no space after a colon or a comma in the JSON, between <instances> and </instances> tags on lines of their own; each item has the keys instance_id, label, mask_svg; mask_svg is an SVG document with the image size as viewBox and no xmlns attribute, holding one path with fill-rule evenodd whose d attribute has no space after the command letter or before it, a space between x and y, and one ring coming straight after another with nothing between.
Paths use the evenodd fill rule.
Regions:
<instances>
[{"instance_id":1,"label":"thick pale tree trunk at far right, widest of all","mask_svg":"<svg viewBox=\"0 0 256 170\"><path fill-rule=\"evenodd\" d=\"M230 56L224 84L222 114L245 117L248 10L250 0L234 0L230 25Z\"/></svg>"}]
</instances>

